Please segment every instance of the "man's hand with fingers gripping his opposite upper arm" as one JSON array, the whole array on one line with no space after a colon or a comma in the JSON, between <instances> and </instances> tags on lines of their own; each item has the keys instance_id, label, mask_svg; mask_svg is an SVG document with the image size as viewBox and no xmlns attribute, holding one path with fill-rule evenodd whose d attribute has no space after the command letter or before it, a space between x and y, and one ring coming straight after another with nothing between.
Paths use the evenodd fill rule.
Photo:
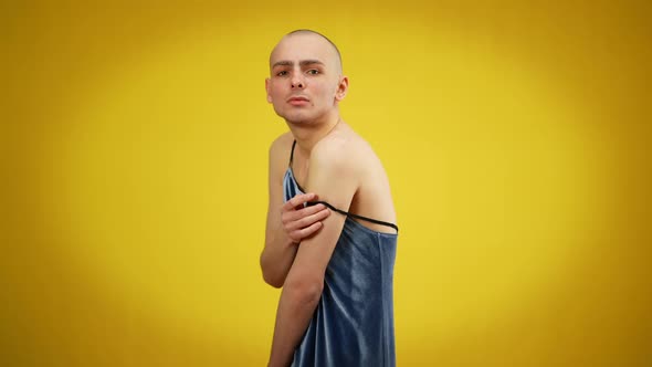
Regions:
<instances>
[{"instance_id":1,"label":"man's hand with fingers gripping his opposite upper arm","mask_svg":"<svg viewBox=\"0 0 652 367\"><path fill-rule=\"evenodd\" d=\"M330 214L330 210L323 203L304 208L304 202L316 199L317 195L313 192L299 193L282 207L283 229L295 244L317 232L324 226L322 220Z\"/></svg>"}]
</instances>

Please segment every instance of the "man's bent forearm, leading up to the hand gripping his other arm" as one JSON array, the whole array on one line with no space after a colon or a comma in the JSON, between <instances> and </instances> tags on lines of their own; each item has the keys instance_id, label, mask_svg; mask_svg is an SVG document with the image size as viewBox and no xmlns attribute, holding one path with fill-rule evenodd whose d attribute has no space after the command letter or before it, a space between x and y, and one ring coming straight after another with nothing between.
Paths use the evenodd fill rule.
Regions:
<instances>
[{"instance_id":1,"label":"man's bent forearm, leading up to the hand gripping his other arm","mask_svg":"<svg viewBox=\"0 0 652 367\"><path fill-rule=\"evenodd\" d=\"M276 228L265 239L261 253L263 279L272 286L281 287L296 255L297 244L285 234L282 227Z\"/></svg>"}]
</instances>

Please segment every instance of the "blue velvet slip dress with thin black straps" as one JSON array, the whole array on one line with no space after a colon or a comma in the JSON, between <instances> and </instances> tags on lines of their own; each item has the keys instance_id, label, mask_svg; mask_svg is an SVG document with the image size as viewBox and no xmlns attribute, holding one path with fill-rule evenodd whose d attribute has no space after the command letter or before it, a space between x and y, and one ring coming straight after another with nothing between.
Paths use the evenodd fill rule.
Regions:
<instances>
[{"instance_id":1,"label":"blue velvet slip dress with thin black straps","mask_svg":"<svg viewBox=\"0 0 652 367\"><path fill-rule=\"evenodd\" d=\"M294 153L294 145L292 148ZM285 201L303 192L292 171L292 155L283 188ZM326 268L322 297L292 366L393 367L392 283L398 235L368 229L351 217L385 222L335 210L347 218Z\"/></svg>"}]
</instances>

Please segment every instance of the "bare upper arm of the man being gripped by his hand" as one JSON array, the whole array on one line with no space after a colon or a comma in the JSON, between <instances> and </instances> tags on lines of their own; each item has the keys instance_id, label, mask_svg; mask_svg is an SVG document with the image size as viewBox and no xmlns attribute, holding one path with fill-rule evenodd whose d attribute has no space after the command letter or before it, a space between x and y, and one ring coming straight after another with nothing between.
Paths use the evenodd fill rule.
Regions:
<instances>
[{"instance_id":1,"label":"bare upper arm of the man being gripped by his hand","mask_svg":"<svg viewBox=\"0 0 652 367\"><path fill-rule=\"evenodd\" d=\"M311 154L306 190L319 196L319 200L348 211L358 188L358 179L343 149L335 144L315 147ZM324 281L326 266L344 228L346 217L328 216L324 227L313 237L304 239L287 274L292 282Z\"/></svg>"}]
</instances>

